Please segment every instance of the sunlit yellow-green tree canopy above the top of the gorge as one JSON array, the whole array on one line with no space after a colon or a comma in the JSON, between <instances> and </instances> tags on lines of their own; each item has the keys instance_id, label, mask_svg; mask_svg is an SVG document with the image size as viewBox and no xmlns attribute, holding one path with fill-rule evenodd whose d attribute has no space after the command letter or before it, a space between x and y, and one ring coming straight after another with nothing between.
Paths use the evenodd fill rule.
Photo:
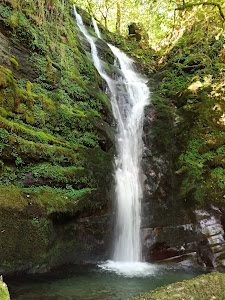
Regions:
<instances>
[{"instance_id":1,"label":"sunlit yellow-green tree canopy above the top of the gorge","mask_svg":"<svg viewBox=\"0 0 225 300\"><path fill-rule=\"evenodd\" d=\"M112 32L127 35L128 26L135 22L148 33L149 43L160 46L174 29L184 30L195 22L223 28L225 2L196 0L74 0Z\"/></svg>"}]
</instances>

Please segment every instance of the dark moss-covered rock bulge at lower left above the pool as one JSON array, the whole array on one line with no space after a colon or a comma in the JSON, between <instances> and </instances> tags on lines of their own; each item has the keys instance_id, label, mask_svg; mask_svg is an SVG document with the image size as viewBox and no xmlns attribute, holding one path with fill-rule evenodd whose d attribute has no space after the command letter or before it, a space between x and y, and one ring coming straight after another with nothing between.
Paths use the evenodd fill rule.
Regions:
<instances>
[{"instance_id":1,"label":"dark moss-covered rock bulge at lower left above the pool","mask_svg":"<svg viewBox=\"0 0 225 300\"><path fill-rule=\"evenodd\" d=\"M95 191L1 186L0 195L1 272L40 272L61 263L95 258L96 244L105 235L97 236L102 217L92 217L98 228L92 234L79 220L89 206L89 211L99 210L101 198ZM105 245L100 248L98 255L102 256Z\"/></svg>"}]
</instances>

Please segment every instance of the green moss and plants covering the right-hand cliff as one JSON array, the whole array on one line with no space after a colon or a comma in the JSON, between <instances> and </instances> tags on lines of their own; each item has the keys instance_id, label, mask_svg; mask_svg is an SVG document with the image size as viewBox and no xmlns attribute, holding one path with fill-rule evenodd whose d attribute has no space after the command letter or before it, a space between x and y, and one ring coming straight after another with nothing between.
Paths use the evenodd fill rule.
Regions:
<instances>
[{"instance_id":1,"label":"green moss and plants covering the right-hand cliff","mask_svg":"<svg viewBox=\"0 0 225 300\"><path fill-rule=\"evenodd\" d=\"M177 150L173 155L177 156L177 170L184 170L178 179L178 197L183 204L188 202L193 207L224 203L222 177L219 175L216 182L218 170L214 171L225 168L224 87L221 86L225 73L220 63L224 37L218 28L212 27L208 32L204 26L199 23L187 27L183 36L167 48L163 59L158 57L155 75L160 80L157 89L176 108L178 118ZM157 105L156 109L163 108ZM171 140L174 143L174 138Z\"/></svg>"}]
</instances>

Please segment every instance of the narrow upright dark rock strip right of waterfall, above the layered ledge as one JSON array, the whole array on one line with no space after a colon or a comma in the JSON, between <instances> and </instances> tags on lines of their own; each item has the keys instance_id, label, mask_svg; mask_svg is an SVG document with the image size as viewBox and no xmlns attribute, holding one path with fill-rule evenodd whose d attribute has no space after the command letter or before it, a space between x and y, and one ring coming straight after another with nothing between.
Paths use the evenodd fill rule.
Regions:
<instances>
[{"instance_id":1,"label":"narrow upright dark rock strip right of waterfall, above the layered ledge","mask_svg":"<svg viewBox=\"0 0 225 300\"><path fill-rule=\"evenodd\" d=\"M143 170L143 227L159 227L171 224L174 200L174 178L171 176L173 162L169 160L168 153L157 149L154 133L154 122L159 118L154 107L149 106L145 111L143 142L144 151L142 157ZM163 118L161 122L164 122ZM165 133L166 134L166 133ZM188 221L189 222L189 221ZM176 222L177 223L177 222ZM179 223L179 222L178 222Z\"/></svg>"}]
</instances>

